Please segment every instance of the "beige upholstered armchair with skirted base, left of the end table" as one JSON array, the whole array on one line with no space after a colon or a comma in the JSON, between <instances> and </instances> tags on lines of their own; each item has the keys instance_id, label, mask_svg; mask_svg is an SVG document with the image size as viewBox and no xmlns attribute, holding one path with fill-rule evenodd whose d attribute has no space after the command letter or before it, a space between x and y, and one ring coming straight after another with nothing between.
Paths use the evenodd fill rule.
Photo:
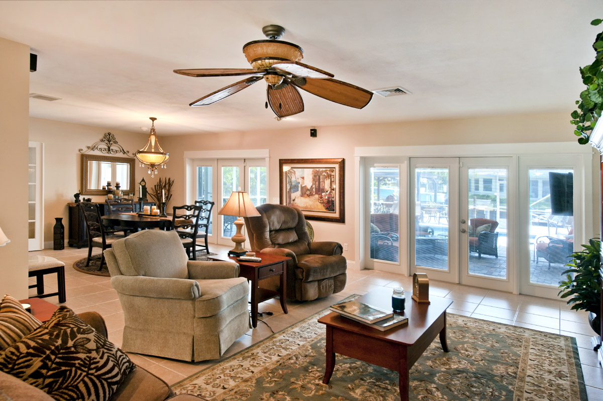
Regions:
<instances>
[{"instance_id":1,"label":"beige upholstered armchair with skirted base, left of the end table","mask_svg":"<svg viewBox=\"0 0 603 401\"><path fill-rule=\"evenodd\" d=\"M124 351L216 359L250 329L238 265L188 260L175 231L137 232L104 254L124 309Z\"/></svg>"}]
</instances>

